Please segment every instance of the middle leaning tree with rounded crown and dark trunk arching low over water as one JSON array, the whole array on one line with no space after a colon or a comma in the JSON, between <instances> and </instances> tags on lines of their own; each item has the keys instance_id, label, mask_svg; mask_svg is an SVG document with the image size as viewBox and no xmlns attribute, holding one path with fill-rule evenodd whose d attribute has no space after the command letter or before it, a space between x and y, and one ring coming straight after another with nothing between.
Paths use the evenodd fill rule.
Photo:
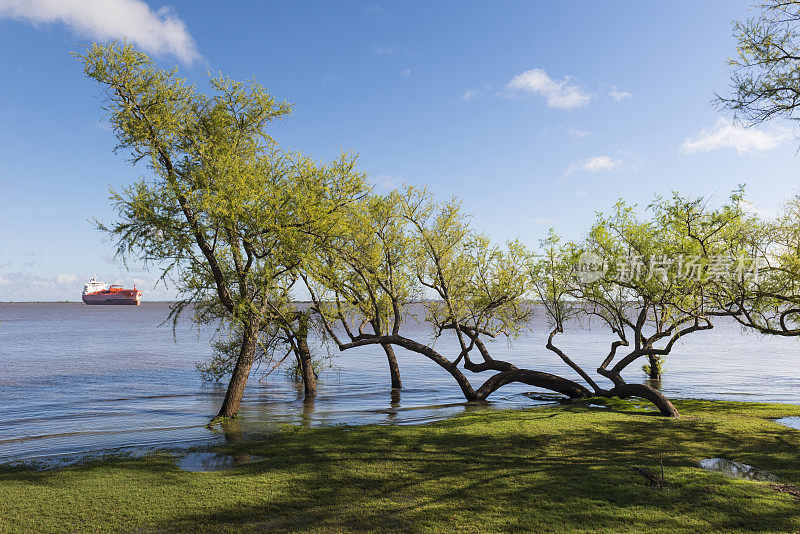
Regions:
<instances>
[{"instance_id":1,"label":"middle leaning tree with rounded crown and dark trunk arching low over water","mask_svg":"<svg viewBox=\"0 0 800 534\"><path fill-rule=\"evenodd\" d=\"M455 200L437 204L413 187L367 204L357 230L321 251L305 279L339 350L402 347L449 373L468 401L485 400L512 382L591 396L573 380L497 359L485 343L514 337L530 324L530 253L522 245L492 245L470 228ZM418 322L435 337L450 336L453 352L420 340ZM481 373L489 376L473 386L469 375Z\"/></svg>"}]
</instances>

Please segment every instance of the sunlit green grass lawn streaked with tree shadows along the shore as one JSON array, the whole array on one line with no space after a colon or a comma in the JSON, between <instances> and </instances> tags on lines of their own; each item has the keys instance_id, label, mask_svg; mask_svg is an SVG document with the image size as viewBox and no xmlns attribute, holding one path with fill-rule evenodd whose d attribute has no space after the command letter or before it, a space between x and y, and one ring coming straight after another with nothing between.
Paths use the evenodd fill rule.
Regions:
<instances>
[{"instance_id":1,"label":"sunlit green grass lawn streaked with tree shadows along the shore","mask_svg":"<svg viewBox=\"0 0 800 534\"><path fill-rule=\"evenodd\" d=\"M611 409L589 408L590 403ZM167 454L0 471L0 531L800 531L800 502L696 467L724 457L800 484L800 406L678 401L680 419L593 399L426 426L287 429L187 473ZM633 467L664 473L652 487Z\"/></svg>"}]
</instances>

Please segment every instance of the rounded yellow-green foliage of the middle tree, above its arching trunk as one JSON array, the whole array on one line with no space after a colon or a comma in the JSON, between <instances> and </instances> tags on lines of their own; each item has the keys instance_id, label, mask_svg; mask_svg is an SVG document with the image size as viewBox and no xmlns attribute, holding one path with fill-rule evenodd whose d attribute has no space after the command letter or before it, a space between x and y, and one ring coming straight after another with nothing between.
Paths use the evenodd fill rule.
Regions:
<instances>
[{"instance_id":1,"label":"rounded yellow-green foliage of the middle tree, above its arching trunk","mask_svg":"<svg viewBox=\"0 0 800 534\"><path fill-rule=\"evenodd\" d=\"M349 224L334 246L320 251L310 276L329 321L342 321L345 329L362 321L351 337L366 325L374 335L399 331L420 300L437 334L463 327L512 335L526 325L528 251L518 241L491 244L470 227L456 200L437 203L414 187L372 195Z\"/></svg>"}]
</instances>

